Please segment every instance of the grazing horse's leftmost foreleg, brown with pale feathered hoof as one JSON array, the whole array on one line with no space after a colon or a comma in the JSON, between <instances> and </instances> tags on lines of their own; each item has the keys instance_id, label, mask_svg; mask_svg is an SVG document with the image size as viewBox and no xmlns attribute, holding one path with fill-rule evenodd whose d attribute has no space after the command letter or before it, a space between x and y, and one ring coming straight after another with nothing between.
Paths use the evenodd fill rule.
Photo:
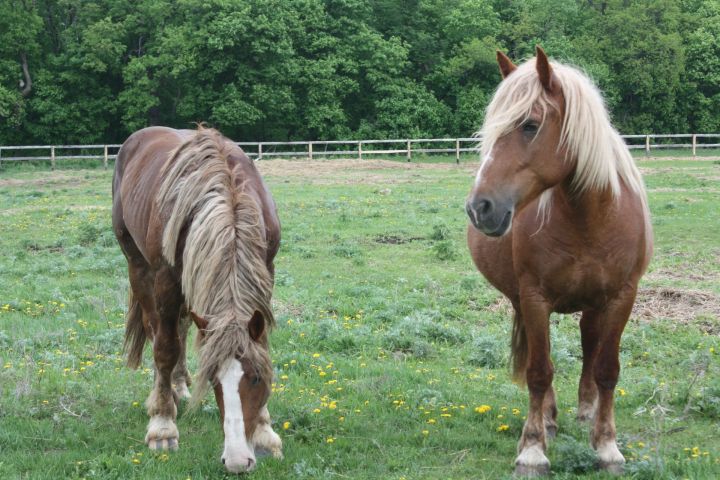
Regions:
<instances>
[{"instance_id":1,"label":"grazing horse's leftmost foreleg, brown with pale feathered hoof","mask_svg":"<svg viewBox=\"0 0 720 480\"><path fill-rule=\"evenodd\" d=\"M152 450L176 450L180 435L175 425L177 405L171 380L180 357L178 316L183 301L180 287L169 267L162 267L157 272L154 287L158 325L153 339L155 385L145 402L150 416L145 443Z\"/></svg>"}]
</instances>

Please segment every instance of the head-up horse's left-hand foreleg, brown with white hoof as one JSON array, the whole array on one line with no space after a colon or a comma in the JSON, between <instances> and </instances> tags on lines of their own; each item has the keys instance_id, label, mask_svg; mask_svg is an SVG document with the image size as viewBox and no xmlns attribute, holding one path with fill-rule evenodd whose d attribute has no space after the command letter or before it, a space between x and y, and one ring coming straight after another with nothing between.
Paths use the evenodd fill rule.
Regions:
<instances>
[{"instance_id":1,"label":"head-up horse's left-hand foreleg, brown with white hoof","mask_svg":"<svg viewBox=\"0 0 720 480\"><path fill-rule=\"evenodd\" d=\"M527 339L526 379L530 393L528 417L518 443L515 475L537 476L550 472L545 456L545 399L552 388L550 361L550 306L536 293L521 294L520 306ZM551 402L548 402L550 405Z\"/></svg>"}]
</instances>

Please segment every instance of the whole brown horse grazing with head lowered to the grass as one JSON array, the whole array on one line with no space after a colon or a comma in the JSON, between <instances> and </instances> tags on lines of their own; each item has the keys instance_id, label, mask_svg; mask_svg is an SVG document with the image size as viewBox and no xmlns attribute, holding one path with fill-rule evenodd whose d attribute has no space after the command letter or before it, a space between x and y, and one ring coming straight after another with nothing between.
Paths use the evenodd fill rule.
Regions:
<instances>
[{"instance_id":1,"label":"whole brown horse grazing with head lowered to the grass","mask_svg":"<svg viewBox=\"0 0 720 480\"><path fill-rule=\"evenodd\" d=\"M178 398L189 396L185 339L192 319L200 353L191 404L212 384L225 467L252 470L258 450L281 457L267 410L280 224L253 162L212 129L140 130L118 153L112 218L130 278L128 365L141 363L146 339L153 346L145 443L178 448L175 418Z\"/></svg>"}]
</instances>

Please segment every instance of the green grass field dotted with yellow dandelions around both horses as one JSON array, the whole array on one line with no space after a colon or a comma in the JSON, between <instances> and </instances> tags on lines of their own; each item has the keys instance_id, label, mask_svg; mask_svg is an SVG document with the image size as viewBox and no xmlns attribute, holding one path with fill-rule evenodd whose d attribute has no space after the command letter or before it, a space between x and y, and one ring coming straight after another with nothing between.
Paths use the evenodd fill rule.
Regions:
<instances>
[{"instance_id":1,"label":"green grass field dotted with yellow dandelions around both horses","mask_svg":"<svg viewBox=\"0 0 720 480\"><path fill-rule=\"evenodd\" d=\"M283 224L270 412L285 459L253 479L510 476L527 393L509 380L508 306L464 242L472 165L447 160L259 163ZM641 167L656 253L622 344L627 475L719 478L720 162ZM178 452L143 444L150 355L124 366L111 175L0 172L2 479L225 475L211 396L181 407ZM574 420L577 321L552 323L554 478L605 478Z\"/></svg>"}]
</instances>

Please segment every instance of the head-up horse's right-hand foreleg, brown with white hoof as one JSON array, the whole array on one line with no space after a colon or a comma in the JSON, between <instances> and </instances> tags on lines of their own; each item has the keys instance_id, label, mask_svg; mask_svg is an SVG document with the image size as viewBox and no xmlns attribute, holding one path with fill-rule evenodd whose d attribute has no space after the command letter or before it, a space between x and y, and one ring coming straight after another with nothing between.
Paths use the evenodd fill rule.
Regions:
<instances>
[{"instance_id":1,"label":"head-up horse's right-hand foreleg, brown with white hoof","mask_svg":"<svg viewBox=\"0 0 720 480\"><path fill-rule=\"evenodd\" d=\"M602 314L603 335L597 345L593 376L598 389L598 408L590 442L598 453L600 468L622 474L625 458L616 442L613 395L620 374L620 336L635 302L635 287L625 288Z\"/></svg>"}]
</instances>

